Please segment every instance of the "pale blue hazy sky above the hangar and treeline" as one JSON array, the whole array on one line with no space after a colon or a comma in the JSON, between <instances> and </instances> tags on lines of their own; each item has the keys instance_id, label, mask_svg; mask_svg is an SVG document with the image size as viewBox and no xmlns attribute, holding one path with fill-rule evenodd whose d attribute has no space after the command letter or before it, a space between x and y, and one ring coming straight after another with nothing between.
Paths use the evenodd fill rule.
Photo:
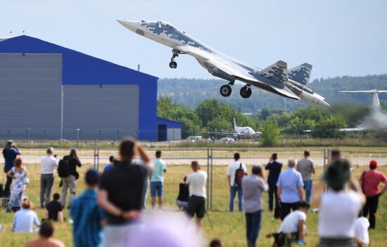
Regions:
<instances>
[{"instance_id":1,"label":"pale blue hazy sky above the hangar and treeline","mask_svg":"<svg viewBox=\"0 0 387 247\"><path fill-rule=\"evenodd\" d=\"M0 37L23 34L157 77L210 79L188 55L170 69L169 47L116 19L166 20L259 68L313 65L312 80L387 73L387 1L0 0ZM12 31L12 34L10 32Z\"/></svg>"}]
</instances>

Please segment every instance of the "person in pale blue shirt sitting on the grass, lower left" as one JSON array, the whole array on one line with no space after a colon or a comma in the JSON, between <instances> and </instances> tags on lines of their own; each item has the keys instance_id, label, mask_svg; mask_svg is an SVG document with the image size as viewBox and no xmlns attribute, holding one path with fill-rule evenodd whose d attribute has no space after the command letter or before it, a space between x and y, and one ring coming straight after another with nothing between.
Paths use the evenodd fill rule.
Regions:
<instances>
[{"instance_id":1,"label":"person in pale blue shirt sitting on the grass, lower left","mask_svg":"<svg viewBox=\"0 0 387 247\"><path fill-rule=\"evenodd\" d=\"M37 213L32 209L32 203L28 199L25 199L22 203L22 209L15 213L13 219L12 232L25 233L25 232L37 232L38 229L34 229L33 226L40 226L40 222L37 218Z\"/></svg>"}]
</instances>

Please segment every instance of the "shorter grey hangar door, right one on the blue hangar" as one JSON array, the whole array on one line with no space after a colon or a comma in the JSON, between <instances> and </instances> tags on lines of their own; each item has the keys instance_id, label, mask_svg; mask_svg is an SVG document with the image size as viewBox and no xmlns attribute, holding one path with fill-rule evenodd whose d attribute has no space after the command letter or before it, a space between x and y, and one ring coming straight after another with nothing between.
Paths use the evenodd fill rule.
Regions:
<instances>
[{"instance_id":1,"label":"shorter grey hangar door, right one on the blue hangar","mask_svg":"<svg viewBox=\"0 0 387 247\"><path fill-rule=\"evenodd\" d=\"M138 85L63 85L63 138L137 138Z\"/></svg>"}]
</instances>

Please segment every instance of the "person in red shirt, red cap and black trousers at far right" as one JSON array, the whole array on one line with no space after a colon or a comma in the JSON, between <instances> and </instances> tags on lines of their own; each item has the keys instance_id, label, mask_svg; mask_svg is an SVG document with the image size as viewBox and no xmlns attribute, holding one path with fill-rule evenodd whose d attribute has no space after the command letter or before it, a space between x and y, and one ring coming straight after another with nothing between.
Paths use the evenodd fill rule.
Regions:
<instances>
[{"instance_id":1,"label":"person in red shirt, red cap and black trousers at far right","mask_svg":"<svg viewBox=\"0 0 387 247\"><path fill-rule=\"evenodd\" d=\"M371 160L369 170L364 171L360 176L360 184L366 196L366 203L363 208L363 216L367 217L369 213L369 228L375 229L376 210L378 210L379 196L387 191L387 178L383 173L376 170L378 162ZM384 183L383 189L379 189L379 184Z\"/></svg>"}]
</instances>

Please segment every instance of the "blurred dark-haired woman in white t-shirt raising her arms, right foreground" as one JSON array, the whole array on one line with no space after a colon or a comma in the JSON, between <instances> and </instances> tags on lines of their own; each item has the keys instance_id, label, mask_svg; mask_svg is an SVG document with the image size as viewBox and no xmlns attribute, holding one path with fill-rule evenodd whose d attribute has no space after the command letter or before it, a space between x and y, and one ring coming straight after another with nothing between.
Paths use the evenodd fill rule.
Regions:
<instances>
[{"instance_id":1,"label":"blurred dark-haired woman in white t-shirt raising her arms, right foreground","mask_svg":"<svg viewBox=\"0 0 387 247\"><path fill-rule=\"evenodd\" d=\"M329 187L316 186L313 201L319 205L318 247L357 247L355 222L365 202L359 182L343 158L329 165L323 176Z\"/></svg>"}]
</instances>

